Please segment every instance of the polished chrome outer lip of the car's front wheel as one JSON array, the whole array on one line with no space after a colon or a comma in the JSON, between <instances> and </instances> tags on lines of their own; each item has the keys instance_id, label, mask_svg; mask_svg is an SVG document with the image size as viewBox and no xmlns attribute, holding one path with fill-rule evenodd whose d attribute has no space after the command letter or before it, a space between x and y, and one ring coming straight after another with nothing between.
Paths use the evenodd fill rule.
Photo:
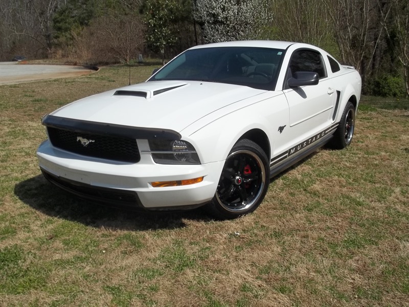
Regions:
<instances>
[{"instance_id":1,"label":"polished chrome outer lip of the car's front wheel","mask_svg":"<svg viewBox=\"0 0 409 307\"><path fill-rule=\"evenodd\" d=\"M230 158L232 158L232 157L234 157L236 155L242 155L242 154L251 156L257 162L258 167L259 167L258 171L260 172L259 176L261 176L261 182L260 182L260 185L258 187L258 190L257 190L256 194L252 195L252 197L251 197L251 199L249 201L243 202L243 204L241 206L232 206L232 205L228 205L228 204L224 203L219 198L219 192L218 192L219 187L217 188L216 194L215 194L217 202L220 204L220 206L224 210L229 211L229 212L234 212L234 213L245 212L248 209L250 209L251 207L253 207L257 203L257 201L259 200L260 195L263 192L264 186L266 185L265 166L263 164L263 161L260 159L260 157L257 156L256 153L254 153L253 151L251 151L251 150L237 150L237 151L234 151L234 152L230 153L230 155L226 158L226 162ZM224 170L224 167L223 167L223 170Z\"/></svg>"}]
</instances>

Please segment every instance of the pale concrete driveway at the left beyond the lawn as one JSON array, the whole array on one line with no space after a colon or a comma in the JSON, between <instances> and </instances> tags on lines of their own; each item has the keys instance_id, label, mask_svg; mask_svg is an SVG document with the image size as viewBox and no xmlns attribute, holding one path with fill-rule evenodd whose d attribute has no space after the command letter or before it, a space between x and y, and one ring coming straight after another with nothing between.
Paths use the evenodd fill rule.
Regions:
<instances>
[{"instance_id":1,"label":"pale concrete driveway at the left beyond the lawn","mask_svg":"<svg viewBox=\"0 0 409 307\"><path fill-rule=\"evenodd\" d=\"M0 62L0 85L87 75L93 70L70 65Z\"/></svg>"}]
</instances>

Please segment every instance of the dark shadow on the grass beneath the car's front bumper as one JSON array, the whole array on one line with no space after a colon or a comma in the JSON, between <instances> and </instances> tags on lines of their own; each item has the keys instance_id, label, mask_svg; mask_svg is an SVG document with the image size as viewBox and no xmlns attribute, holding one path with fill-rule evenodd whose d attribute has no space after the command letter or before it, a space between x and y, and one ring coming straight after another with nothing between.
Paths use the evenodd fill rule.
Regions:
<instances>
[{"instance_id":1,"label":"dark shadow on the grass beneath the car's front bumper","mask_svg":"<svg viewBox=\"0 0 409 307\"><path fill-rule=\"evenodd\" d=\"M41 213L96 228L134 231L177 229L186 227L184 219L211 221L200 208L180 212L139 212L103 206L55 187L42 175L16 184L14 194Z\"/></svg>"}]
</instances>

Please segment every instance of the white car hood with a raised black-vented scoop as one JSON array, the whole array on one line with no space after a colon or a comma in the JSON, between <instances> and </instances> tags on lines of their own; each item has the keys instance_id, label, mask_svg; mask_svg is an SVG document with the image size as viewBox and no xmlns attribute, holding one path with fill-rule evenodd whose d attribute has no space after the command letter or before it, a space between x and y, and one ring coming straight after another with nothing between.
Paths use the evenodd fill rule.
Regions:
<instances>
[{"instance_id":1,"label":"white car hood with a raised black-vented scoop","mask_svg":"<svg viewBox=\"0 0 409 307\"><path fill-rule=\"evenodd\" d=\"M206 81L149 81L80 99L51 115L179 132L209 114L264 92Z\"/></svg>"}]
</instances>

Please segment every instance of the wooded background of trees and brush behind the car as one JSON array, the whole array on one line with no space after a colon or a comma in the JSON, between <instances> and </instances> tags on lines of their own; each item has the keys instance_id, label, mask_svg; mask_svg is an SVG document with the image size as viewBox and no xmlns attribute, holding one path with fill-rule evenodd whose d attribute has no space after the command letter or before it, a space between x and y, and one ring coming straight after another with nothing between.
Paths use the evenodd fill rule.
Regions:
<instances>
[{"instance_id":1,"label":"wooded background of trees and brush behind the car","mask_svg":"<svg viewBox=\"0 0 409 307\"><path fill-rule=\"evenodd\" d=\"M0 61L172 58L202 43L307 42L355 66L363 93L409 96L407 0L2 0Z\"/></svg>"}]
</instances>

